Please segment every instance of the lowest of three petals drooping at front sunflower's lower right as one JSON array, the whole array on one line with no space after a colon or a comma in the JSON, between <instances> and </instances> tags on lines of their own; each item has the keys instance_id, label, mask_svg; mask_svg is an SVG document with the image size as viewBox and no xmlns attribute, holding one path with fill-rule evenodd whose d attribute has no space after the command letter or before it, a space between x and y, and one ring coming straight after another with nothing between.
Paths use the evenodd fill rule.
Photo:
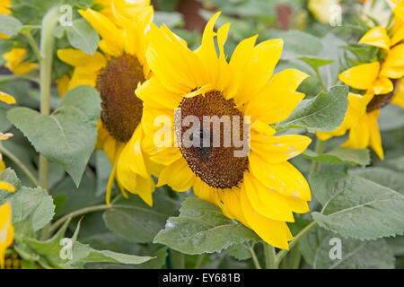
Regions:
<instances>
[{"instance_id":1,"label":"lowest of three petals drooping at front sunflower's lower right","mask_svg":"<svg viewBox=\"0 0 404 287\"><path fill-rule=\"evenodd\" d=\"M252 208L245 188L241 191L242 213L261 239L276 248L289 249L287 241L290 239L288 227L285 222L273 221L268 217L256 213Z\"/></svg>"}]
</instances>

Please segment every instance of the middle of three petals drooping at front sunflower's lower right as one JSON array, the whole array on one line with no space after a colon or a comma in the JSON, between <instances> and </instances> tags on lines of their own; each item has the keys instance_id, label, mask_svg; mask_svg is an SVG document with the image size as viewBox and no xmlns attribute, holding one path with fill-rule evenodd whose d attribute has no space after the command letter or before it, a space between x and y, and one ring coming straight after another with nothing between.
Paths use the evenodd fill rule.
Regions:
<instances>
[{"instance_id":1,"label":"middle of three petals drooping at front sunflower's lower right","mask_svg":"<svg viewBox=\"0 0 404 287\"><path fill-rule=\"evenodd\" d=\"M244 173L244 187L254 210L274 221L294 222L294 215L287 204L286 196L265 187L250 172Z\"/></svg>"}]
</instances>

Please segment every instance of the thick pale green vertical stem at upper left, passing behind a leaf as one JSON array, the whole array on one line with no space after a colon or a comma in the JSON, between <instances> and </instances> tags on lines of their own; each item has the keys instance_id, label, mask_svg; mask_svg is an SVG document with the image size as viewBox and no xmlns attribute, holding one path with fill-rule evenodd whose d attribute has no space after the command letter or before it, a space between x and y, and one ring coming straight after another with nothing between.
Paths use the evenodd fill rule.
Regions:
<instances>
[{"instance_id":1,"label":"thick pale green vertical stem at upper left, passing behind a leaf","mask_svg":"<svg viewBox=\"0 0 404 287\"><path fill-rule=\"evenodd\" d=\"M55 39L53 30L57 24L58 7L53 7L42 20L40 35L40 113L50 113L50 87L52 84L52 60ZM48 159L40 154L40 186L48 190Z\"/></svg>"}]
</instances>

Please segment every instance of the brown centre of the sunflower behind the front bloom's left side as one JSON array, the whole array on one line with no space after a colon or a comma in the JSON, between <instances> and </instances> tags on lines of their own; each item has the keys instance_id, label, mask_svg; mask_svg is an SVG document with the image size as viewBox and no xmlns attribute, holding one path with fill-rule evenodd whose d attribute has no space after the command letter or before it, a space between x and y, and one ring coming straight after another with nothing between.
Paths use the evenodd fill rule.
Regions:
<instances>
[{"instance_id":1,"label":"brown centre of the sunflower behind the front bloom's left side","mask_svg":"<svg viewBox=\"0 0 404 287\"><path fill-rule=\"evenodd\" d=\"M143 66L136 57L124 54L110 60L98 74L101 120L115 139L126 143L142 117L142 100L136 97L137 83L145 81Z\"/></svg>"}]
</instances>

